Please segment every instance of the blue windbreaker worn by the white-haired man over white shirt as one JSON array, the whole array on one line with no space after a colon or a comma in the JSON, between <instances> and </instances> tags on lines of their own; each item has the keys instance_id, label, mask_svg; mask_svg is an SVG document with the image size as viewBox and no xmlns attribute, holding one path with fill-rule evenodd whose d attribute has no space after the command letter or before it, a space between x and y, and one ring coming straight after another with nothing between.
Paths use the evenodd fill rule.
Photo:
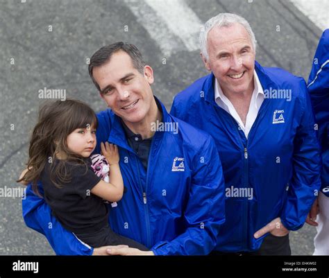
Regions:
<instances>
[{"instance_id":1,"label":"blue windbreaker worn by the white-haired man over white shirt","mask_svg":"<svg viewBox=\"0 0 329 278\"><path fill-rule=\"evenodd\" d=\"M221 252L258 250L267 234L258 239L253 234L277 217L287 229L301 228L321 185L319 143L305 81L258 62L255 71L266 98L248 140L233 116L214 101L213 74L180 92L171 108L171 114L205 130L216 142L226 184L226 222L216 247ZM247 189L253 198L232 194Z\"/></svg>"}]
</instances>

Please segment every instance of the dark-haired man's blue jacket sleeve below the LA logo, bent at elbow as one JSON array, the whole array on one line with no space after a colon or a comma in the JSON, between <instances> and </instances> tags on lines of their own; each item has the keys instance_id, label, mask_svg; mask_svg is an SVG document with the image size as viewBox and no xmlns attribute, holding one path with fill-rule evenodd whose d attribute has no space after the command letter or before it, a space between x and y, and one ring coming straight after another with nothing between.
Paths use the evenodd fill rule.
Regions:
<instances>
[{"instance_id":1,"label":"dark-haired man's blue jacket sleeve below the LA logo, bent at elbow","mask_svg":"<svg viewBox=\"0 0 329 278\"><path fill-rule=\"evenodd\" d=\"M225 221L224 180L219 154L211 137L194 157L194 171L185 207L186 230L172 241L151 248L155 255L205 255L217 244Z\"/></svg>"}]
</instances>

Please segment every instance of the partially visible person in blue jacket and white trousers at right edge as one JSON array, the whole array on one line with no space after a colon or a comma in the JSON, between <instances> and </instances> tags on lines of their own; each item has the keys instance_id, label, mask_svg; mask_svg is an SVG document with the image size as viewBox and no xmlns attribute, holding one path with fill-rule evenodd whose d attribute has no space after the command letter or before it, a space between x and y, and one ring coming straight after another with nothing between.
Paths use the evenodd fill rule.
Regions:
<instances>
[{"instance_id":1,"label":"partially visible person in blue jacket and white trousers at right edge","mask_svg":"<svg viewBox=\"0 0 329 278\"><path fill-rule=\"evenodd\" d=\"M314 255L329 255L329 29L323 32L308 78L322 148L321 190L306 222L317 226Z\"/></svg>"}]
</instances>

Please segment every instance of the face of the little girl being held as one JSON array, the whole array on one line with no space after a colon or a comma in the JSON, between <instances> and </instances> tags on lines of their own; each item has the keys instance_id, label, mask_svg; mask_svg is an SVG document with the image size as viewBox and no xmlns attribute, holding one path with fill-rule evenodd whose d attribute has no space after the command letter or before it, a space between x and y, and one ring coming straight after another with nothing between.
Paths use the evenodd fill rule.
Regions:
<instances>
[{"instance_id":1,"label":"face of the little girl being held","mask_svg":"<svg viewBox=\"0 0 329 278\"><path fill-rule=\"evenodd\" d=\"M90 157L96 147L96 130L90 125L77 128L67 136L67 147L76 155Z\"/></svg>"}]
</instances>

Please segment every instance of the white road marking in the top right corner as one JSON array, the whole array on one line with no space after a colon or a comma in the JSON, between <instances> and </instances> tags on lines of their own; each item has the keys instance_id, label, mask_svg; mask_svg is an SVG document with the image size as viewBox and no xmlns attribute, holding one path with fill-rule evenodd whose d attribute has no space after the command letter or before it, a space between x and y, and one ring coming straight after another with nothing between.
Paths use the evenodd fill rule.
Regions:
<instances>
[{"instance_id":1,"label":"white road marking in the top right corner","mask_svg":"<svg viewBox=\"0 0 329 278\"><path fill-rule=\"evenodd\" d=\"M329 28L328 0L290 0L298 10L301 10L321 30Z\"/></svg>"}]
</instances>

